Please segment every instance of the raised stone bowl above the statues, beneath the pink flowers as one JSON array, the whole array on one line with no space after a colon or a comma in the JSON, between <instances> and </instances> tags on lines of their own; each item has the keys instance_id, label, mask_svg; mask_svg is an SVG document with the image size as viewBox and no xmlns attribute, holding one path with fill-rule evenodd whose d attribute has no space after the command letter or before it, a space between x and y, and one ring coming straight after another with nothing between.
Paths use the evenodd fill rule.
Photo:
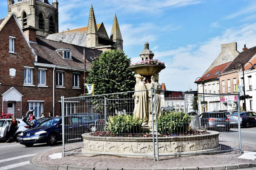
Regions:
<instances>
[{"instance_id":1,"label":"raised stone bowl above the statues, beneath the pink flowers","mask_svg":"<svg viewBox=\"0 0 256 170\"><path fill-rule=\"evenodd\" d=\"M154 73L159 73L165 68L166 66L163 65L136 65L129 67L129 69L133 70L136 74L140 74L141 76L152 76Z\"/></svg>"}]
</instances>

